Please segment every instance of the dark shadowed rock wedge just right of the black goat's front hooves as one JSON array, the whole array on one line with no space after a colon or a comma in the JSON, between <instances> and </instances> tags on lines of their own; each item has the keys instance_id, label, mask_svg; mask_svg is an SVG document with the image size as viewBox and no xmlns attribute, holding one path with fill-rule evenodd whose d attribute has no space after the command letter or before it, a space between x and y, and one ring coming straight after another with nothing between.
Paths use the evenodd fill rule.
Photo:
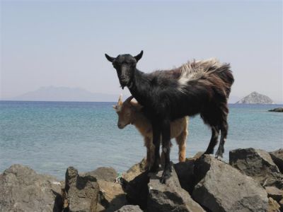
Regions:
<instances>
[{"instance_id":1,"label":"dark shadowed rock wedge just right of the black goat's front hooves","mask_svg":"<svg viewBox=\"0 0 283 212\"><path fill-rule=\"evenodd\" d=\"M192 194L192 190L195 187L195 185L193 184L193 182L195 181L194 178L195 159L176 163L174 165L174 168L178 175L178 179L181 187L185 189L187 192L190 192L190 194Z\"/></svg>"}]
</instances>

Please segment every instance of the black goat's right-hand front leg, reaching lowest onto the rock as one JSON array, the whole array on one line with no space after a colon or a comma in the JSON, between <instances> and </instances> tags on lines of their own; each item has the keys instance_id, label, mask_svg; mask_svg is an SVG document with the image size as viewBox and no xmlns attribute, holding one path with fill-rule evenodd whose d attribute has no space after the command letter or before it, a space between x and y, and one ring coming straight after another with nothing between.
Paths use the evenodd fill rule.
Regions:
<instances>
[{"instance_id":1,"label":"black goat's right-hand front leg, reaching lowest onto the rock","mask_svg":"<svg viewBox=\"0 0 283 212\"><path fill-rule=\"evenodd\" d=\"M170 163L170 120L164 120L161 124L162 129L162 151L164 153L165 158L165 165L164 170L162 173L161 183L166 183L166 179L168 179L171 176L172 167Z\"/></svg>"}]
</instances>

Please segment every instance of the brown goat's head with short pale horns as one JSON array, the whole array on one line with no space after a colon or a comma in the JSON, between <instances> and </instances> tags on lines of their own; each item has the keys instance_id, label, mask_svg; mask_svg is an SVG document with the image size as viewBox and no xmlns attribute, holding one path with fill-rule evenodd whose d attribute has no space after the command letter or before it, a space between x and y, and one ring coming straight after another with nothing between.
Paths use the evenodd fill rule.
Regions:
<instances>
[{"instance_id":1,"label":"brown goat's head with short pale horns","mask_svg":"<svg viewBox=\"0 0 283 212\"><path fill-rule=\"evenodd\" d=\"M125 102L122 102L122 95L120 95L117 105L113 105L113 108L118 114L117 126L119 129L123 129L128 124L131 124L133 119L134 107L132 107L132 96L127 98Z\"/></svg>"}]
</instances>

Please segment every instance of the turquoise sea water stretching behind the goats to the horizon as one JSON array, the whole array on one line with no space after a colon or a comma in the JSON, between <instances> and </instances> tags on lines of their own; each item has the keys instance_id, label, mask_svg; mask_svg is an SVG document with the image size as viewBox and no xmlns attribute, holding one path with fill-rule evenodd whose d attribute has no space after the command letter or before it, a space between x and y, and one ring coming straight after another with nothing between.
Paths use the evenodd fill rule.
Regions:
<instances>
[{"instance_id":1,"label":"turquoise sea water stretching behind the goats to the horizon","mask_svg":"<svg viewBox=\"0 0 283 212\"><path fill-rule=\"evenodd\" d=\"M146 155L134 126L117 128L114 102L0 101L0 172L14 163L64 179L69 166L80 172L100 166L123 172ZM229 136L224 160L234 148L283 146L282 105L229 105ZM199 116L190 119L187 157L205 151L210 130ZM171 159L178 161L173 141Z\"/></svg>"}]
</instances>

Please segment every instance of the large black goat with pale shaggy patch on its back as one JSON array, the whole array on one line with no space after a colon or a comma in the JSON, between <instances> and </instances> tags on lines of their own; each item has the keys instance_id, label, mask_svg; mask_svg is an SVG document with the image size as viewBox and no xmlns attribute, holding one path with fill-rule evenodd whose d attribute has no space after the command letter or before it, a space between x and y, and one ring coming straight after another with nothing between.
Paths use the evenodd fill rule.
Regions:
<instances>
[{"instance_id":1,"label":"large black goat with pale shaggy patch on its back","mask_svg":"<svg viewBox=\"0 0 283 212\"><path fill-rule=\"evenodd\" d=\"M165 167L161 182L170 177L170 122L184 116L199 114L212 129L212 137L206 154L214 152L219 130L221 139L216 157L222 157L227 136L227 98L233 84L229 64L220 64L216 59L192 61L176 69L143 73L139 71L137 56L120 54L116 58L105 54L117 70L122 88L127 86L134 98L144 106L144 114L151 120L155 146L154 165L151 172L159 167L159 148L162 135L162 151Z\"/></svg>"}]
</instances>

